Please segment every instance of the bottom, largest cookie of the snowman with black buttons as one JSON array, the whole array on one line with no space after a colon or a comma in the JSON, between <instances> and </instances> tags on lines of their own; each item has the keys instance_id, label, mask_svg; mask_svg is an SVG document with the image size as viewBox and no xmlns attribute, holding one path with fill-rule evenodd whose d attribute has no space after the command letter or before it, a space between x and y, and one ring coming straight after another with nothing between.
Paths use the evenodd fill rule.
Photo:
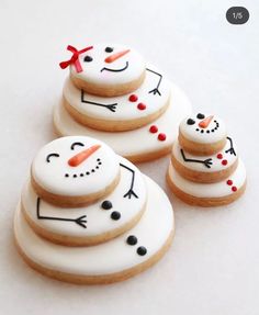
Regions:
<instances>
[{"instance_id":1,"label":"bottom, largest cookie of the snowman with black buttons","mask_svg":"<svg viewBox=\"0 0 259 315\"><path fill-rule=\"evenodd\" d=\"M146 177L148 201L142 220L130 232L91 247L53 244L33 232L20 204L14 217L16 246L41 273L74 283L111 283L133 277L157 262L171 244L174 224L165 192Z\"/></svg>"}]
</instances>

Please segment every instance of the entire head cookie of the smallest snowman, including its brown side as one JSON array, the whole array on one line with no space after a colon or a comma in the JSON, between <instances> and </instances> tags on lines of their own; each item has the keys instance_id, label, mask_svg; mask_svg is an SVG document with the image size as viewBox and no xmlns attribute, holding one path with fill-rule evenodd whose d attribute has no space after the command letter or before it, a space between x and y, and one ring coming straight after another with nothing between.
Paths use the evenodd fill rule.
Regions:
<instances>
[{"instance_id":1,"label":"entire head cookie of the smallest snowman, including its brown side","mask_svg":"<svg viewBox=\"0 0 259 315\"><path fill-rule=\"evenodd\" d=\"M225 123L216 115L198 113L185 117L179 127L179 143L195 155L212 155L226 144Z\"/></svg>"}]
</instances>

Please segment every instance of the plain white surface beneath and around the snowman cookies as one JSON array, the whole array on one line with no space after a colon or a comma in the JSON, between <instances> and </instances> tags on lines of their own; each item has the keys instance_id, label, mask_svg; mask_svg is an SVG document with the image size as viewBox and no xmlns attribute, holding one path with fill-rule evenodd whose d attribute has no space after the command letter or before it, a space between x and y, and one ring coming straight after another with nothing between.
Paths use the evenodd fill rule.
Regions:
<instances>
[{"instance_id":1,"label":"plain white surface beneath and around the snowman cookies","mask_svg":"<svg viewBox=\"0 0 259 315\"><path fill-rule=\"evenodd\" d=\"M250 11L247 24L226 22L235 4ZM257 315L258 1L2 0L0 15L1 314ZM66 45L104 41L138 48L183 88L194 111L214 111L226 121L248 187L223 209L204 211L173 199L177 234L165 259L127 282L89 288L27 268L13 246L12 217L33 156L53 138ZM162 159L142 169L165 187L167 165Z\"/></svg>"}]
</instances>

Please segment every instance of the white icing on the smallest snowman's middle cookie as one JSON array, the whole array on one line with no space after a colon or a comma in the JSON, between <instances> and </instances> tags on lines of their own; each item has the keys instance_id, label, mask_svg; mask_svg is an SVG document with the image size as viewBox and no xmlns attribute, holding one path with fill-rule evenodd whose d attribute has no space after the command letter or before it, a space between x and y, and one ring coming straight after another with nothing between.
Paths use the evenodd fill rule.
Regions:
<instances>
[{"instance_id":1,"label":"white icing on the smallest snowman's middle cookie","mask_svg":"<svg viewBox=\"0 0 259 315\"><path fill-rule=\"evenodd\" d=\"M185 159L194 159L200 161L209 161L209 167L206 167L205 164L202 162L194 162L194 161L184 161L181 149L183 150ZM179 142L177 140L173 144L172 147L172 155L173 157L185 168L194 171L201 171L201 172L216 172L222 171L227 168L229 168L236 160L237 160L237 151L236 146L234 146L235 154L230 153L230 142L227 140L225 147L219 150L217 154L214 154L212 156L195 156L193 154L189 154L188 151L184 151L184 149L180 146ZM221 157L221 158L218 158ZM223 161L227 161L226 165L223 164Z\"/></svg>"}]
</instances>

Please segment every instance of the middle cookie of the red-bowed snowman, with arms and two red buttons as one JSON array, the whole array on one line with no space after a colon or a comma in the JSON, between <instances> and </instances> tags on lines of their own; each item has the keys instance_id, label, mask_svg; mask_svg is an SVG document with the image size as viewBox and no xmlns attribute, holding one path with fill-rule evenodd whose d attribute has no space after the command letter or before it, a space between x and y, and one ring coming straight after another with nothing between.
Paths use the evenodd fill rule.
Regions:
<instances>
[{"instance_id":1,"label":"middle cookie of the red-bowed snowman, with arms and two red buttons","mask_svg":"<svg viewBox=\"0 0 259 315\"><path fill-rule=\"evenodd\" d=\"M159 90L154 93L156 87ZM169 105L170 92L170 81L150 66L143 85L133 93L121 97L92 95L77 89L67 79L63 102L80 124L100 131L121 132L136 130L158 119Z\"/></svg>"}]
</instances>

